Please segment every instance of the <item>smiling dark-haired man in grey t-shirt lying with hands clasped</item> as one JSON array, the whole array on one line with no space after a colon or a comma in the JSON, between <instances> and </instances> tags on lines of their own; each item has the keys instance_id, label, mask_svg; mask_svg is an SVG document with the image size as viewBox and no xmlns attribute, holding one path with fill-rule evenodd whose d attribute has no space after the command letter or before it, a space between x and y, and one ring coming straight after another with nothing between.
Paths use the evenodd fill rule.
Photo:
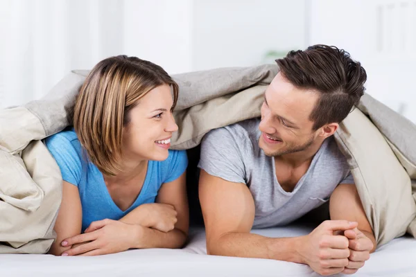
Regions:
<instances>
[{"instance_id":1,"label":"smiling dark-haired man in grey t-shirt lying with hands clasped","mask_svg":"<svg viewBox=\"0 0 416 277\"><path fill-rule=\"evenodd\" d=\"M363 96L367 75L334 46L291 51L277 64L261 119L215 129L202 141L207 252L299 262L323 275L354 274L376 242L332 135ZM328 200L331 220L309 235L250 233L288 224Z\"/></svg>"}]
</instances>

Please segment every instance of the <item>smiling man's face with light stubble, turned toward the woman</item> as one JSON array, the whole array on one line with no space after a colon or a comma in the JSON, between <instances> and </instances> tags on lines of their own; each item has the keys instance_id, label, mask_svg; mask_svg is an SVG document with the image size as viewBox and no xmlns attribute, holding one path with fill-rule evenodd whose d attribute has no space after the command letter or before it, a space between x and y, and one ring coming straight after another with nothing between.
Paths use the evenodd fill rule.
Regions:
<instances>
[{"instance_id":1,"label":"smiling man's face with light stubble, turned toward the woman","mask_svg":"<svg viewBox=\"0 0 416 277\"><path fill-rule=\"evenodd\" d=\"M266 155L277 157L313 145L318 130L313 132L313 121L309 116L318 101L317 92L298 89L278 73L266 89L264 98L259 146Z\"/></svg>"}]
</instances>

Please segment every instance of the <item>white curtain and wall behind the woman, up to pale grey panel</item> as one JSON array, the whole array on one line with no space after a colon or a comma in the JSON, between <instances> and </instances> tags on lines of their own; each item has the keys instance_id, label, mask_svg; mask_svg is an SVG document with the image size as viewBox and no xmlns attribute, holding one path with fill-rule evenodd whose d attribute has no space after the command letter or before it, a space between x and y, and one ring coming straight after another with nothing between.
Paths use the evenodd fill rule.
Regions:
<instances>
[{"instance_id":1,"label":"white curtain and wall behind the woman, up to pale grey panel","mask_svg":"<svg viewBox=\"0 0 416 277\"><path fill-rule=\"evenodd\" d=\"M191 71L191 0L1 0L0 107L46 94L72 69L136 55Z\"/></svg>"}]
</instances>

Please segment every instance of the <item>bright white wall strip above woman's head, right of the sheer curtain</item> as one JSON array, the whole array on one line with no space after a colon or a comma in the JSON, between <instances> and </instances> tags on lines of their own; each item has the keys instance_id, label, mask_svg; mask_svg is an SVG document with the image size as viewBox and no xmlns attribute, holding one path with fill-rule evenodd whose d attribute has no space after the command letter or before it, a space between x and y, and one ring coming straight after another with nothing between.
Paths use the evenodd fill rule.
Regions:
<instances>
[{"instance_id":1,"label":"bright white wall strip above woman's head, right of the sheer curtain","mask_svg":"<svg viewBox=\"0 0 416 277\"><path fill-rule=\"evenodd\" d=\"M125 0L123 53L171 74L191 71L192 8L191 0Z\"/></svg>"}]
</instances>

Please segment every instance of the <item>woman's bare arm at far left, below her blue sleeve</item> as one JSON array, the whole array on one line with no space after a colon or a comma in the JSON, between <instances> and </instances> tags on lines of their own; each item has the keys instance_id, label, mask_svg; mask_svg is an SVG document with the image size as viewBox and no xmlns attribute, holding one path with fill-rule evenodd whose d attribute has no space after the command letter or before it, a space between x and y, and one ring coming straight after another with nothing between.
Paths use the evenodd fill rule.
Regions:
<instances>
[{"instance_id":1,"label":"woman's bare arm at far left, below her blue sleeve","mask_svg":"<svg viewBox=\"0 0 416 277\"><path fill-rule=\"evenodd\" d=\"M61 242L65 238L79 235L82 229L82 222L83 210L81 208L78 187L63 181L62 202L54 227L57 237L51 249L49 249L49 253L60 256L64 251L70 249L71 247L62 247Z\"/></svg>"}]
</instances>

